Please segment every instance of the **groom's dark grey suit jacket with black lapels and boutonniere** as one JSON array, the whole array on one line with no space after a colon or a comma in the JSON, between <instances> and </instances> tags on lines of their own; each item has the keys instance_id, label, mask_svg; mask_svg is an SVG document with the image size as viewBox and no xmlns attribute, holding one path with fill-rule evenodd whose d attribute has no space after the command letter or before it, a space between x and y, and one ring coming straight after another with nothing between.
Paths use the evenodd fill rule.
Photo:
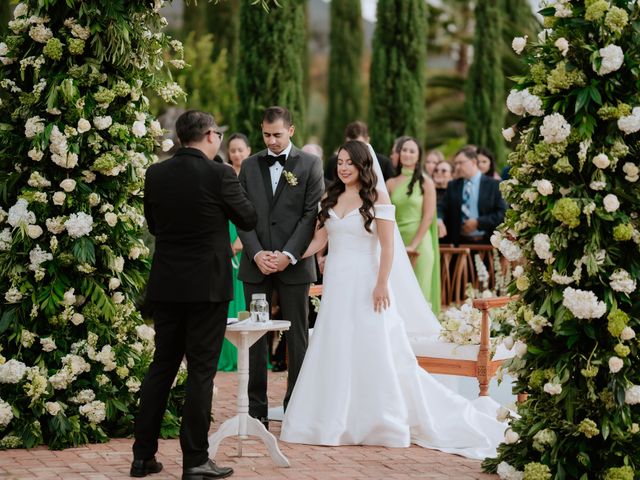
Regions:
<instances>
[{"instance_id":1,"label":"groom's dark grey suit jacket with black lapels and boutonniere","mask_svg":"<svg viewBox=\"0 0 640 480\"><path fill-rule=\"evenodd\" d=\"M264 275L253 261L260 250L289 252L298 262L275 275L285 284L303 284L316 281L313 256L301 259L313 238L318 202L324 191L322 162L315 155L292 147L275 194L263 150L242 162L240 183L256 206L258 223L255 229L238 227L242 240L242 261L238 278L243 282L260 283ZM295 176L291 185L285 176Z\"/></svg>"}]
</instances>

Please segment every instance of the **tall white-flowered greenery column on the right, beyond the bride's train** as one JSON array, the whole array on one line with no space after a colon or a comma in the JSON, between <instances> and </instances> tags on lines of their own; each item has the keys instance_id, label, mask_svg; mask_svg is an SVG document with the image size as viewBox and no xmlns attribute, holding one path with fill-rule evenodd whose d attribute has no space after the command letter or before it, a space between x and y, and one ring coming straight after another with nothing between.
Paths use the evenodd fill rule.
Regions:
<instances>
[{"instance_id":1,"label":"tall white-flowered greenery column on the right, beyond the bride's train","mask_svg":"<svg viewBox=\"0 0 640 480\"><path fill-rule=\"evenodd\" d=\"M527 39L528 73L507 99L520 143L501 185L513 209L495 237L524 257L511 286L522 343L508 368L529 397L511 423L519 439L484 467L631 480L640 472L640 6L558 2L540 13L553 30ZM537 330L536 316L547 322ZM542 430L558 440L536 449Z\"/></svg>"}]
</instances>

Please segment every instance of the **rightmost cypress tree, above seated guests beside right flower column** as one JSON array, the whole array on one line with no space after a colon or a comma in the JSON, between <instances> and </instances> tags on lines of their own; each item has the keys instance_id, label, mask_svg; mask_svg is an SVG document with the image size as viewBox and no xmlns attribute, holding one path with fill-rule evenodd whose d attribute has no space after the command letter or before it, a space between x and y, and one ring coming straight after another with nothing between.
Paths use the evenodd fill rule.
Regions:
<instances>
[{"instance_id":1,"label":"rightmost cypress tree, above seated guests beside right flower column","mask_svg":"<svg viewBox=\"0 0 640 480\"><path fill-rule=\"evenodd\" d=\"M502 1L479 0L476 4L474 58L466 83L467 141L490 149L496 161L505 161L504 81L502 76Z\"/></svg>"}]
</instances>

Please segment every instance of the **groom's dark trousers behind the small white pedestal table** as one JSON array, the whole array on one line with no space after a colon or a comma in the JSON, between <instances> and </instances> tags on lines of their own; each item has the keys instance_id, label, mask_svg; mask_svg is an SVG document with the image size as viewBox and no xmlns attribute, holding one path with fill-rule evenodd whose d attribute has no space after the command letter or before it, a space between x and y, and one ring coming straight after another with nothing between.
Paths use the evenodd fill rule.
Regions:
<instances>
[{"instance_id":1,"label":"groom's dark trousers behind the small white pedestal table","mask_svg":"<svg viewBox=\"0 0 640 480\"><path fill-rule=\"evenodd\" d=\"M277 276L271 275L265 277L261 283L245 282L244 295L247 305L250 305L252 294L266 293L271 306L274 290L278 292L282 319L291 322L290 329L285 332L289 353L287 392L283 403L286 409L309 343L309 284L287 285ZM263 335L249 349L249 415L255 418L266 417L269 410L267 348L267 337Z\"/></svg>"}]
</instances>

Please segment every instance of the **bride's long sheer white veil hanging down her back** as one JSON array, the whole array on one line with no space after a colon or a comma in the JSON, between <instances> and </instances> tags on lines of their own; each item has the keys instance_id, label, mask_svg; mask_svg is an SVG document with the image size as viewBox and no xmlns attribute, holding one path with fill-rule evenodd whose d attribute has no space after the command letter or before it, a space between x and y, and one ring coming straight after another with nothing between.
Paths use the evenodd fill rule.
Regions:
<instances>
[{"instance_id":1,"label":"bride's long sheer white veil hanging down her back","mask_svg":"<svg viewBox=\"0 0 640 480\"><path fill-rule=\"evenodd\" d=\"M373 158L373 169L378 177L376 188L378 191L389 193L384 183L378 156L371 145L367 144L367 146ZM420 289L416 275L411 267L409 256L404 249L404 242L400 236L398 224L394 225L393 265L389 276L389 287L393 292L396 309L404 320L405 328L409 335L434 335L440 333L442 327Z\"/></svg>"}]
</instances>

